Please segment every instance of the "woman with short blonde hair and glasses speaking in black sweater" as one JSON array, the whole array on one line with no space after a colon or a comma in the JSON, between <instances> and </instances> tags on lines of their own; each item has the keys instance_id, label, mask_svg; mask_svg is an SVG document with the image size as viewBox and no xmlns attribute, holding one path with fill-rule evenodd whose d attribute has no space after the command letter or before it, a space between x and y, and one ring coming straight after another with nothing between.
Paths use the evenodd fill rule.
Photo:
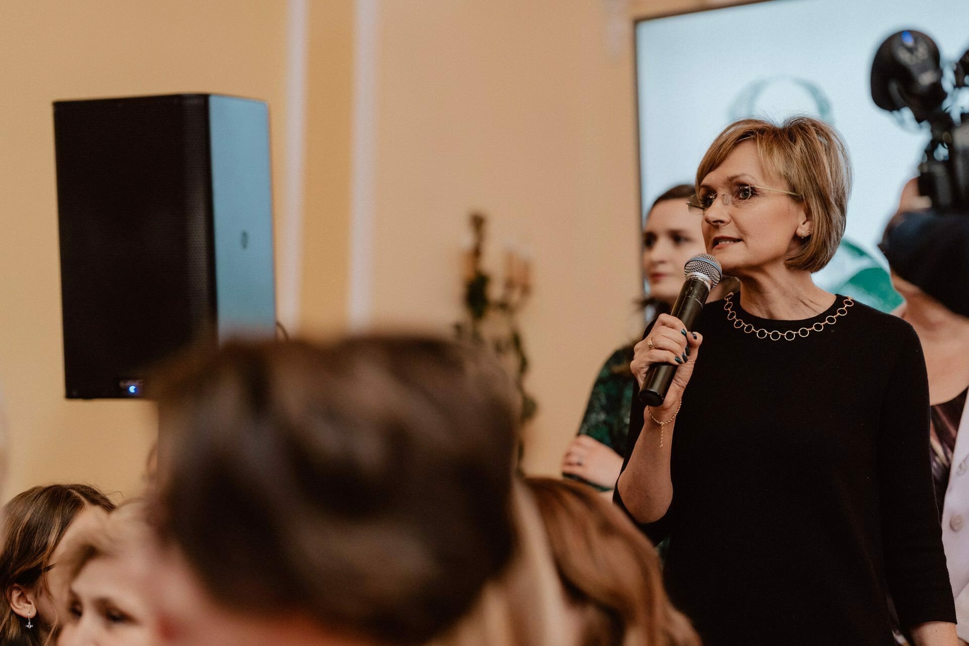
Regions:
<instances>
[{"instance_id":1,"label":"woman with short blonde hair and glasses speaking in black sweater","mask_svg":"<svg viewBox=\"0 0 969 646\"><path fill-rule=\"evenodd\" d=\"M659 317L635 349L640 381L678 367L660 406L633 409L616 500L669 536L671 598L707 646L888 646L890 596L918 646L956 643L919 339L811 280L850 187L817 119L728 126L690 206L740 292L691 330Z\"/></svg>"}]
</instances>

